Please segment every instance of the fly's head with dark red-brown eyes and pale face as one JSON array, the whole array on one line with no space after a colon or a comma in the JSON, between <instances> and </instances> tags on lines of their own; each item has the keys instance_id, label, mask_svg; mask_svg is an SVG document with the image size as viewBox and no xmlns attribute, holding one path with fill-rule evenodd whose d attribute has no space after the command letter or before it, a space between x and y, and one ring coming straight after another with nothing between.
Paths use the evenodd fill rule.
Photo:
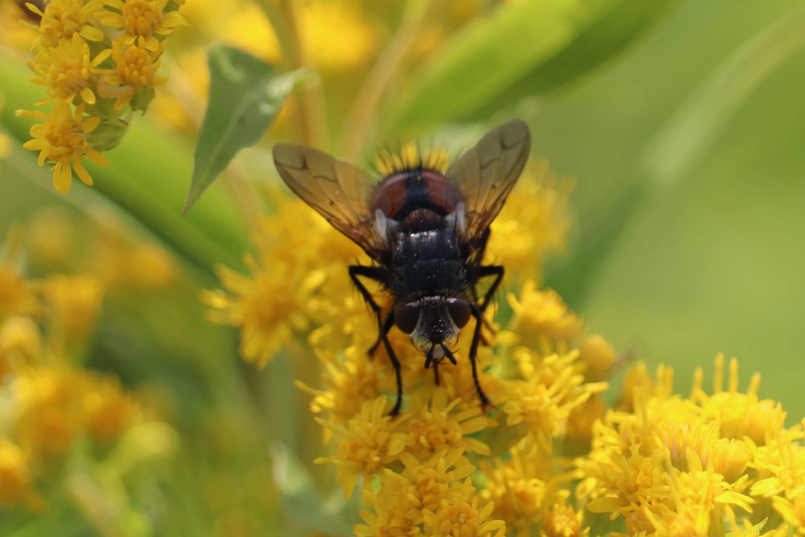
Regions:
<instances>
[{"instance_id":1,"label":"fly's head with dark red-brown eyes and pale face","mask_svg":"<svg viewBox=\"0 0 805 537\"><path fill-rule=\"evenodd\" d=\"M429 297L397 306L394 321L426 354L427 368L433 359L438 361L444 356L455 363L449 347L471 314L469 302L462 298Z\"/></svg>"}]
</instances>

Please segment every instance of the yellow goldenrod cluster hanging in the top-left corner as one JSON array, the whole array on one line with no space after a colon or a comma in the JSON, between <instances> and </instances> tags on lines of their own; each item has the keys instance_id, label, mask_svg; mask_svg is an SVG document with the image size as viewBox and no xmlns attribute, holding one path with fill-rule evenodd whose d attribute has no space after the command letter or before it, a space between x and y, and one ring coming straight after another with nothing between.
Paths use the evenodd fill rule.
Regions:
<instances>
[{"instance_id":1,"label":"yellow goldenrod cluster hanging in the top-left corner","mask_svg":"<svg viewBox=\"0 0 805 537\"><path fill-rule=\"evenodd\" d=\"M93 180L85 158L109 165L101 152L120 143L136 110L154 98L159 56L165 38L187 24L173 0L49 0L43 9L28 4L41 17L28 60L35 77L53 102L49 114L19 110L41 121L31 127L34 139L24 148L39 151L39 165L53 164L53 184L67 194L72 172L86 185ZM31 23L27 23L31 24ZM124 118L124 114L126 117Z\"/></svg>"}]
</instances>

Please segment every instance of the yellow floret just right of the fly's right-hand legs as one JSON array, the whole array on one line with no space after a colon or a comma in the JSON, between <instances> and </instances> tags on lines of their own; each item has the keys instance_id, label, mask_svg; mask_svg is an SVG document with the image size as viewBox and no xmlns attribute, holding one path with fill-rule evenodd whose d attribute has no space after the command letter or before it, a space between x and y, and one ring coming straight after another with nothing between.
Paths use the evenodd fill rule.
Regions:
<instances>
[{"instance_id":1,"label":"yellow floret just right of the fly's right-hand legs","mask_svg":"<svg viewBox=\"0 0 805 537\"><path fill-rule=\"evenodd\" d=\"M510 330L516 332L526 347L539 348L547 339L554 346L567 348L584 329L584 323L568 310L562 298L552 289L539 291L535 282L522 285L520 296L506 297L514 318Z\"/></svg>"}]
</instances>

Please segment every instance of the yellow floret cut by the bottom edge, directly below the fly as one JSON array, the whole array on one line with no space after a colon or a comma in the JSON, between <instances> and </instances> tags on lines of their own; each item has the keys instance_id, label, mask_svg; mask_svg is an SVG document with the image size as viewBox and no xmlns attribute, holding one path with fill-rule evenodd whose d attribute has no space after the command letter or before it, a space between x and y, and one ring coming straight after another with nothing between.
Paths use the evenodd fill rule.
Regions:
<instances>
[{"instance_id":1,"label":"yellow floret cut by the bottom edge, directly below the fly","mask_svg":"<svg viewBox=\"0 0 805 537\"><path fill-rule=\"evenodd\" d=\"M495 537L506 535L506 522L486 520L494 510L494 503L488 502L478 510L478 497L474 494L472 481L464 481L464 497L442 498L435 510L423 510L425 522L424 535L449 535L450 537Z\"/></svg>"}]
</instances>

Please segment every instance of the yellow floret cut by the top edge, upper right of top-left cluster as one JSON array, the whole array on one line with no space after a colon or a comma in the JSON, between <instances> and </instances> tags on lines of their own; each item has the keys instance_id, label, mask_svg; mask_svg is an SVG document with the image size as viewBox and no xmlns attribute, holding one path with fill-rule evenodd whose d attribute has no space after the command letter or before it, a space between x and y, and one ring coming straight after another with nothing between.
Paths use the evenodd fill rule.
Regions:
<instances>
[{"instance_id":1,"label":"yellow floret cut by the top edge, upper right of top-left cluster","mask_svg":"<svg viewBox=\"0 0 805 537\"><path fill-rule=\"evenodd\" d=\"M171 35L175 27L188 24L188 20L179 11L165 12L168 0L103 0L103 2L120 13L99 11L95 18L102 24L114 28L122 28L126 44L142 37L145 48L151 51L159 48L157 35Z\"/></svg>"}]
</instances>

